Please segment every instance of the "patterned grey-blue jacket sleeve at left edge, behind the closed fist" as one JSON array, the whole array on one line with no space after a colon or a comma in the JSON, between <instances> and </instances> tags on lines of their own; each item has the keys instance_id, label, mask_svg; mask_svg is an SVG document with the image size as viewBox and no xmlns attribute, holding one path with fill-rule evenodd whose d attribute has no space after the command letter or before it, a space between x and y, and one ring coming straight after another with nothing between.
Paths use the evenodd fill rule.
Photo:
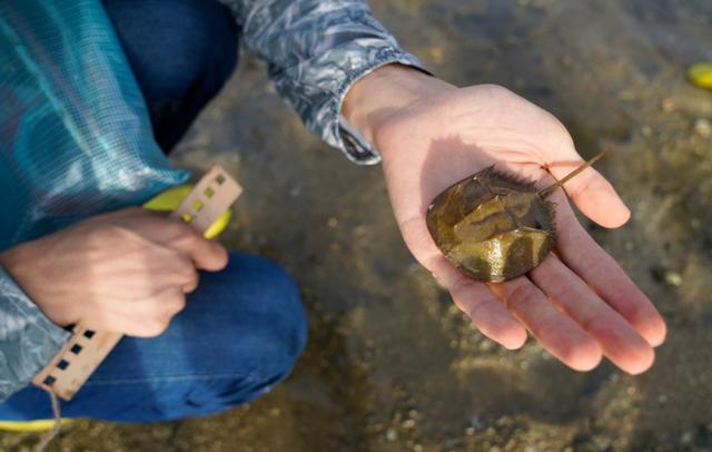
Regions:
<instances>
[{"instance_id":1,"label":"patterned grey-blue jacket sleeve at left edge, behind the closed fist","mask_svg":"<svg viewBox=\"0 0 712 452\"><path fill-rule=\"evenodd\" d=\"M0 402L27 385L69 336L0 267Z\"/></svg>"}]
</instances>

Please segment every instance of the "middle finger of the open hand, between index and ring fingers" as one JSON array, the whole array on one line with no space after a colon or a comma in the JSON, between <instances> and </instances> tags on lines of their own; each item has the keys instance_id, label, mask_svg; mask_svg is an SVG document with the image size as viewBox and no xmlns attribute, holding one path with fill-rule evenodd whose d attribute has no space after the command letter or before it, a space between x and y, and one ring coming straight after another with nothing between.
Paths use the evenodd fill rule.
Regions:
<instances>
[{"instance_id":1,"label":"middle finger of the open hand, between index and ring fingers","mask_svg":"<svg viewBox=\"0 0 712 452\"><path fill-rule=\"evenodd\" d=\"M650 344L556 256L544 259L530 277L553 303L599 341L603 354L623 371L639 374L653 364L655 354Z\"/></svg>"}]
</instances>

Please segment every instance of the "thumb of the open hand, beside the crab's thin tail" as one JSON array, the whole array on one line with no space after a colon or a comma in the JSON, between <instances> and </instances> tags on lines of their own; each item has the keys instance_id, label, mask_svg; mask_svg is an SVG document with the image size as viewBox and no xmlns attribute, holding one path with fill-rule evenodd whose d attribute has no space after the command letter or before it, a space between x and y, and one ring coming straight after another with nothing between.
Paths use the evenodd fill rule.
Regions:
<instances>
[{"instance_id":1,"label":"thumb of the open hand, beside the crab's thin tail","mask_svg":"<svg viewBox=\"0 0 712 452\"><path fill-rule=\"evenodd\" d=\"M575 150L572 149L571 154L572 160L552 165L548 168L557 180L585 163ZM615 188L594 168L586 168L568 180L564 189L586 217L603 227L622 226L631 217L631 210L615 193Z\"/></svg>"}]
</instances>

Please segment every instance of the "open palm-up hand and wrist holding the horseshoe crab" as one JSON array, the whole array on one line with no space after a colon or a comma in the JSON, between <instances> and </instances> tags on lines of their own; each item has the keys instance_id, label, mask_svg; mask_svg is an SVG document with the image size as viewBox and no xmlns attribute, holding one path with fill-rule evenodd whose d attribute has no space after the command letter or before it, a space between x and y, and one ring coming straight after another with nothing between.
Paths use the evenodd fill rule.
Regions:
<instances>
[{"instance_id":1,"label":"open palm-up hand and wrist holding the horseshoe crab","mask_svg":"<svg viewBox=\"0 0 712 452\"><path fill-rule=\"evenodd\" d=\"M663 320L576 220L562 190L548 198L557 205L556 253L526 276L501 284L471 279L445 259L428 233L425 215L435 196L490 165L541 187L581 165L556 118L505 88L455 88L399 66L359 80L343 114L380 150L406 245L483 334L517 348L528 330L552 355L578 371L595 367L602 355L631 374L652 365L652 347L665 337ZM565 189L601 226L619 227L630 217L595 169L586 169Z\"/></svg>"}]
</instances>

